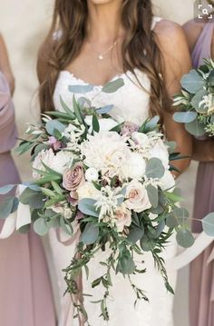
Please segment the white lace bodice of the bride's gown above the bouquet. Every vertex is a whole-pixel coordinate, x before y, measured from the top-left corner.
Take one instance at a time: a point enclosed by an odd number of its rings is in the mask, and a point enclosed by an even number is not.
[[[155,17],[154,25],[160,21],[160,18]],[[148,76],[142,73],[139,69],[135,69],[135,74],[128,71],[125,74],[118,74],[111,81],[117,78],[122,78],[124,85],[115,93],[102,93],[102,85],[94,85],[92,91],[86,94],[75,94],[76,99],[83,95],[92,101],[95,107],[101,107],[107,104],[112,104],[112,118],[119,123],[128,121],[140,125],[149,116],[150,90],[151,83]],[[136,78],[137,77],[137,78]],[[139,84],[139,81],[141,84]],[[71,72],[63,70],[59,74],[58,81],[53,94],[53,103],[57,111],[63,111],[60,102],[60,95],[65,104],[73,108],[73,94],[69,92],[69,85],[86,85],[87,83],[80,78],[77,78]]]

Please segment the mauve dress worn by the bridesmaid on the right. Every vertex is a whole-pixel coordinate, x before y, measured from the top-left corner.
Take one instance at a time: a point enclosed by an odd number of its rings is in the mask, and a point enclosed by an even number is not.
[[[192,52],[194,67],[211,56],[214,23],[204,26]],[[214,141],[213,141],[214,148]],[[214,212],[214,162],[199,163],[193,217],[202,219]],[[193,222],[192,231],[201,232],[201,223]],[[209,255],[214,244],[190,263],[190,326],[214,326],[214,261]]]

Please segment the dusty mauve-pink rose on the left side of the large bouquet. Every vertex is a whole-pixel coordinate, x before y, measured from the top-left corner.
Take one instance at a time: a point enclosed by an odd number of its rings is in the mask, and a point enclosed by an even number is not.
[[[63,173],[63,187],[70,192],[75,192],[85,183],[83,164],[76,163],[72,169],[67,169]]]

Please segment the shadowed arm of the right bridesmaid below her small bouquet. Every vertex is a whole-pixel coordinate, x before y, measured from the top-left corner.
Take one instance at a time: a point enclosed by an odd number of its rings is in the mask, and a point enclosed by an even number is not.
[[[214,140],[199,141],[194,139],[192,158],[199,162],[214,162]]]

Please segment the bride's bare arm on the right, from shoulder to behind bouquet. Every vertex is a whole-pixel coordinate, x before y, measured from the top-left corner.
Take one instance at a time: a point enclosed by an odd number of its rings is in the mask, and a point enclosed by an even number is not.
[[[190,72],[191,61],[190,52],[186,37],[180,25],[170,21],[162,20],[156,25],[155,32],[160,44],[160,50],[165,65],[165,83],[170,97],[180,93],[180,79],[183,74]],[[182,123],[173,120],[172,110],[164,112],[164,126],[168,140],[177,143],[176,152],[182,156],[188,156],[173,162],[180,173],[185,171],[190,165],[192,155],[192,136],[188,133]]]

